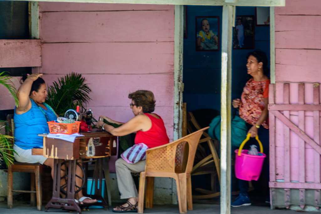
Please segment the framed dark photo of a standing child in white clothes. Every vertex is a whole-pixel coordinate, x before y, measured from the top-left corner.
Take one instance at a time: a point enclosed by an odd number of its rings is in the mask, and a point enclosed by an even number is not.
[[[255,49],[254,16],[237,16],[233,27],[233,49]]]

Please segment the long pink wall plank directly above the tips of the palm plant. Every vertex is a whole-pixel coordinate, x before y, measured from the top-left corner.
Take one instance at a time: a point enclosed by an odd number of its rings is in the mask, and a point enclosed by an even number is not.
[[[42,71],[173,73],[173,46],[173,42],[43,43]]]

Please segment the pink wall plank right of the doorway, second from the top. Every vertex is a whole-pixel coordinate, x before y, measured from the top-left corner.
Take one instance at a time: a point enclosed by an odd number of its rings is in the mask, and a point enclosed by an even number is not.
[[[275,48],[321,49],[320,22],[321,16],[276,15]]]

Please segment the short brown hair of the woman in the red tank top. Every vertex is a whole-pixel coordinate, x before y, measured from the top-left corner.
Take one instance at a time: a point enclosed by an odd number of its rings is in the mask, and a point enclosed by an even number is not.
[[[134,100],[135,106],[141,106],[143,113],[152,113],[155,110],[155,98],[152,91],[137,90],[128,94],[128,98]]]

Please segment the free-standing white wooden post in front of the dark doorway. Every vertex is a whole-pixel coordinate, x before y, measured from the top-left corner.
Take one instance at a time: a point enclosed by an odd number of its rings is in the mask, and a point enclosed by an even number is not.
[[[221,62],[221,214],[230,214],[231,212],[231,83],[232,26],[234,17],[235,8],[231,5],[223,5]]]

